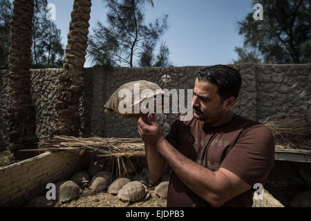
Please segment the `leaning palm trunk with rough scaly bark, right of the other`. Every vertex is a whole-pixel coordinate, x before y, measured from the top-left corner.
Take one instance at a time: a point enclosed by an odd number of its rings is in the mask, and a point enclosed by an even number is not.
[[[57,135],[79,135],[83,66],[88,41],[91,0],[75,0],[68,33],[62,74],[57,88],[55,131]]]

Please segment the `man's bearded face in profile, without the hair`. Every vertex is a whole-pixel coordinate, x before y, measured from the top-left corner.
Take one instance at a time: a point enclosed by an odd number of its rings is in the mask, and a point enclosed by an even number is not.
[[[223,104],[218,95],[218,87],[207,81],[198,81],[194,85],[194,117],[207,125],[217,123],[225,114]]]

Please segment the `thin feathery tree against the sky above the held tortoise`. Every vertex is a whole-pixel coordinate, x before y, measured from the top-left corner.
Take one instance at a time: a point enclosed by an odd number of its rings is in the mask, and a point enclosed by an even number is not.
[[[152,66],[153,50],[167,30],[168,15],[146,25],[146,0],[104,0],[107,25],[100,21],[88,40],[88,57],[104,66]],[[152,5],[152,1],[149,1]]]

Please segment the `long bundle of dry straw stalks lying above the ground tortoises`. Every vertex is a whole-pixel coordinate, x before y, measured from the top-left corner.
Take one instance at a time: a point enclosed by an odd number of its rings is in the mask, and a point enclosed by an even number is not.
[[[102,138],[55,136],[53,139],[39,142],[39,149],[48,151],[72,151],[83,154],[85,151],[98,153],[98,157],[132,157],[142,156],[144,142],[140,138]]]

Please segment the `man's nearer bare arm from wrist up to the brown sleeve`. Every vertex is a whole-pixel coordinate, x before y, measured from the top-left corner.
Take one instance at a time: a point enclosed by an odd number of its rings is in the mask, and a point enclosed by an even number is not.
[[[220,168],[211,171],[182,155],[167,140],[163,139],[157,146],[171,169],[180,180],[200,198],[211,206],[222,206],[228,200],[247,191],[251,186],[234,173]]]

